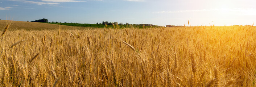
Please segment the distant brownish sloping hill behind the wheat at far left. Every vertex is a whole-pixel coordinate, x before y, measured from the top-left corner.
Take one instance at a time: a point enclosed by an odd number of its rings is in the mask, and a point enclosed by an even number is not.
[[[6,25],[6,20],[0,20],[0,28],[4,28]],[[47,24],[41,22],[25,22],[25,21],[12,21],[10,30],[24,29],[24,30],[54,30],[58,29],[57,24]],[[61,25],[61,29],[89,29],[88,27],[78,27],[78,26],[66,26]],[[96,28],[90,28],[96,29]]]

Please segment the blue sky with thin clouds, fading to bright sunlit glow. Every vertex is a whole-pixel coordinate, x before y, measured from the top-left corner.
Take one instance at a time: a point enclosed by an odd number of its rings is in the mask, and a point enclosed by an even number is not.
[[[252,25],[256,23],[255,4],[256,0],[0,0],[0,19],[160,26]]]

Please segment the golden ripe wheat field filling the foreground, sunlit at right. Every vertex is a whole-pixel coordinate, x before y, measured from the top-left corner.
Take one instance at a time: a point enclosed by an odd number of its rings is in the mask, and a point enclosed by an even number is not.
[[[12,24],[15,25],[15,24]],[[255,26],[7,30],[7,87],[254,87]]]

